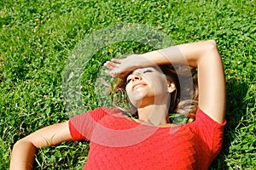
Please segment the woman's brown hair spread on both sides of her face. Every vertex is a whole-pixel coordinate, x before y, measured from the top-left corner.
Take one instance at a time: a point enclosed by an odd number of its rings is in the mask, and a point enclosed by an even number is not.
[[[191,68],[188,65],[159,65],[159,68],[166,75],[166,79],[173,82],[176,86],[176,89],[171,94],[169,115],[173,113],[182,114],[188,117],[188,122],[193,122],[198,105],[195,68]],[[127,76],[118,77],[115,82],[113,87],[113,105],[124,113],[136,115],[137,109],[131,105],[125,92]]]

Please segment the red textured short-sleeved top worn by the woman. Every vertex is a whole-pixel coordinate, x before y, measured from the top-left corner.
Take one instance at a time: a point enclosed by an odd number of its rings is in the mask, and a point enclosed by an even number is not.
[[[90,140],[84,169],[208,169],[221,149],[224,124],[198,110],[195,122],[154,127],[100,107],[69,120],[73,140]]]

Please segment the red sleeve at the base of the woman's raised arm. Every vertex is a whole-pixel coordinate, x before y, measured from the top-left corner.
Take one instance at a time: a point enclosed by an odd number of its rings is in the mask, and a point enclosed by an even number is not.
[[[213,156],[217,156],[221,150],[226,121],[219,124],[199,108],[195,115],[195,122],[192,122],[195,133],[199,136]]]

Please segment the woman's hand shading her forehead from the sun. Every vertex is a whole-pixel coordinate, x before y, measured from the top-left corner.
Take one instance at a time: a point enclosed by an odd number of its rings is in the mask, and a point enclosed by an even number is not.
[[[143,54],[131,54],[124,59],[111,59],[104,66],[109,69],[107,74],[111,77],[121,77],[137,68],[154,65],[150,60],[146,59]]]

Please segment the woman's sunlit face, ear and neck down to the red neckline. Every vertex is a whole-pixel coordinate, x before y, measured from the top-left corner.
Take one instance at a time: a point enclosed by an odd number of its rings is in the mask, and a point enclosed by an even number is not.
[[[154,126],[170,126],[167,121],[170,93],[173,83],[155,67],[145,67],[132,71],[126,78],[126,93],[131,104],[137,107],[138,122]]]

